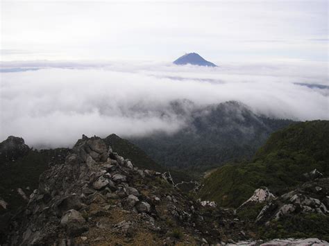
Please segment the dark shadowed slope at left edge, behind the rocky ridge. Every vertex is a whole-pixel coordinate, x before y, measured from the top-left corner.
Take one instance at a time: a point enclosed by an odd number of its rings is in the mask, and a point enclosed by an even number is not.
[[[0,205],[0,215],[24,206],[41,173],[63,161],[69,152],[67,148],[32,150],[19,137],[8,137],[0,146],[0,200],[7,204],[6,209]]]

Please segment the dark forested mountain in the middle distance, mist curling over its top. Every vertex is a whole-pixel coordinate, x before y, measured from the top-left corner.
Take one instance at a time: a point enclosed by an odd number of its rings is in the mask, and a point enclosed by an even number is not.
[[[178,101],[171,110],[187,119],[184,128],[174,134],[155,132],[128,140],[158,164],[176,168],[205,170],[251,157],[269,134],[293,123],[259,116],[235,101],[206,107]]]

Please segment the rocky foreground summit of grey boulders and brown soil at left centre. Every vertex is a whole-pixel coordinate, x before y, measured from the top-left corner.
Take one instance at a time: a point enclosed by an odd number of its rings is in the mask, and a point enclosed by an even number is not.
[[[214,219],[215,218],[215,219]],[[244,240],[233,211],[187,197],[99,137],[78,140],[11,219],[8,245],[172,245]],[[231,239],[230,239],[231,240]]]

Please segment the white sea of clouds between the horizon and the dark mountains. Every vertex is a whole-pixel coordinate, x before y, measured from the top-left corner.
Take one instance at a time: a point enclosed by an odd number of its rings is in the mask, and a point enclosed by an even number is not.
[[[325,62],[258,62],[219,67],[157,62],[3,62],[0,141],[72,146],[81,137],[175,132],[185,120],[175,100],[199,107],[238,100],[256,114],[328,119]],[[164,114],[165,113],[165,114]]]

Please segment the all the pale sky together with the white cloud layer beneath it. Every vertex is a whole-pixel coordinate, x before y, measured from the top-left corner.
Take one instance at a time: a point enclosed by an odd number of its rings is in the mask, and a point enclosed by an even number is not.
[[[171,103],[329,119],[328,1],[2,0],[0,141],[183,128]],[[196,52],[219,67],[177,66]],[[190,110],[187,105],[187,111]],[[165,116],[164,116],[165,115]]]

